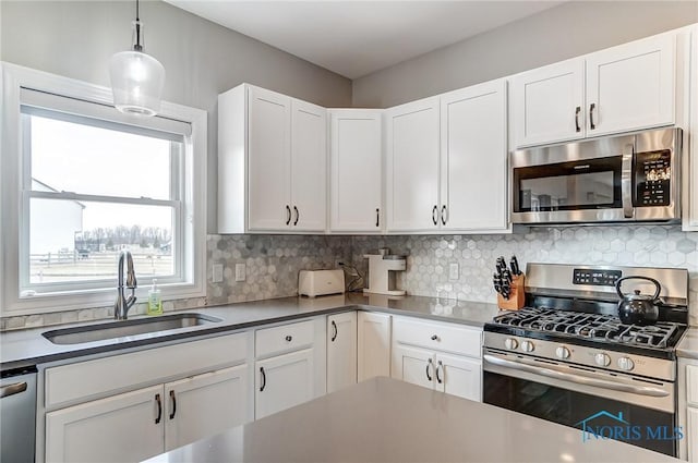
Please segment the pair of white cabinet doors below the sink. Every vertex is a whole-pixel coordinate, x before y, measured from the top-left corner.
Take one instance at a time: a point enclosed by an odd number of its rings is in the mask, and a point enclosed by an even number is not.
[[[47,462],[137,462],[249,421],[248,366],[46,414]]]

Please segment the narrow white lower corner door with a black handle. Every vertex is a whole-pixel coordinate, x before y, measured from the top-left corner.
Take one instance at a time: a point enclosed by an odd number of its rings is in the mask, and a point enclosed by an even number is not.
[[[357,383],[357,313],[327,317],[327,392]]]

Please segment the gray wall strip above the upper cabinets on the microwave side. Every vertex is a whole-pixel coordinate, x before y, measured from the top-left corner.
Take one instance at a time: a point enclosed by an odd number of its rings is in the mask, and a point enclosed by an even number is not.
[[[571,1],[353,81],[388,108],[698,22],[698,1]]]

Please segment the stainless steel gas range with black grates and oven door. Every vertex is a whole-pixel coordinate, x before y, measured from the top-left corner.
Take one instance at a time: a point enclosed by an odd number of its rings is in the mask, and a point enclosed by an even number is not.
[[[616,281],[661,284],[659,319],[624,325]],[[484,326],[483,401],[677,455],[675,346],[688,321],[685,269],[529,264],[526,307]],[[626,288],[627,285],[627,288]],[[652,294],[646,280],[623,292]]]

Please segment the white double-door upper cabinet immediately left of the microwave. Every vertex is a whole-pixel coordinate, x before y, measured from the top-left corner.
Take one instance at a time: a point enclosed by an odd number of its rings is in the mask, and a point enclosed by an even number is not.
[[[508,230],[506,82],[386,112],[388,232]]]

